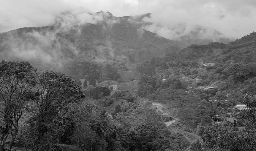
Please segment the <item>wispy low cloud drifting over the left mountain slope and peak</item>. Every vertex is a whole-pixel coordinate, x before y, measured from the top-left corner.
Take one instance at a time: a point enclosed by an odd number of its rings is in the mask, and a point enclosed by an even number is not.
[[[89,14],[76,10],[58,14],[52,22],[54,26],[45,29],[30,28],[21,33],[18,30],[9,31],[0,43],[0,59],[32,60],[39,65],[46,63],[61,67],[63,61],[80,53],[72,36],[79,36],[82,26],[87,23],[101,24],[103,21],[107,23],[106,30],[119,22],[107,12]]]

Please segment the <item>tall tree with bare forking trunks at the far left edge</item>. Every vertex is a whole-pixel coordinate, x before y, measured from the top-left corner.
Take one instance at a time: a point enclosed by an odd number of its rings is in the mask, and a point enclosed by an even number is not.
[[[28,62],[0,62],[0,113],[3,125],[0,151],[5,150],[5,142],[11,134],[8,151],[11,151],[19,131],[19,119],[25,110],[27,101],[31,99],[30,90],[35,85],[36,69]]]

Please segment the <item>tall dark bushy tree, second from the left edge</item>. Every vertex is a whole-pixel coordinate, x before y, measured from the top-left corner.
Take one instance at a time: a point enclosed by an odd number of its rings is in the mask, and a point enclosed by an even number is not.
[[[34,149],[54,148],[55,143],[68,142],[76,122],[72,103],[84,97],[81,88],[65,74],[45,71],[38,75],[35,91],[39,96],[36,99],[38,112],[30,119]]]

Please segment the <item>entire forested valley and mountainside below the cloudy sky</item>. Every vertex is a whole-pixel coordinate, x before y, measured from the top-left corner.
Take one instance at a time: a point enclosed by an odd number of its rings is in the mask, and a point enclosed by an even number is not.
[[[86,15],[0,34],[0,151],[255,150],[254,32],[183,48],[150,14]]]

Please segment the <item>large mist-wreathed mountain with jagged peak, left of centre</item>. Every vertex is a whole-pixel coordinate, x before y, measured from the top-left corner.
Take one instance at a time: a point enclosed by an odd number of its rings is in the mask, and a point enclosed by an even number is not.
[[[175,54],[179,42],[165,39],[142,28],[147,15],[114,17],[96,14],[63,13],[54,25],[25,27],[0,34],[1,60],[28,60],[34,66],[58,68],[76,58],[130,61]]]

